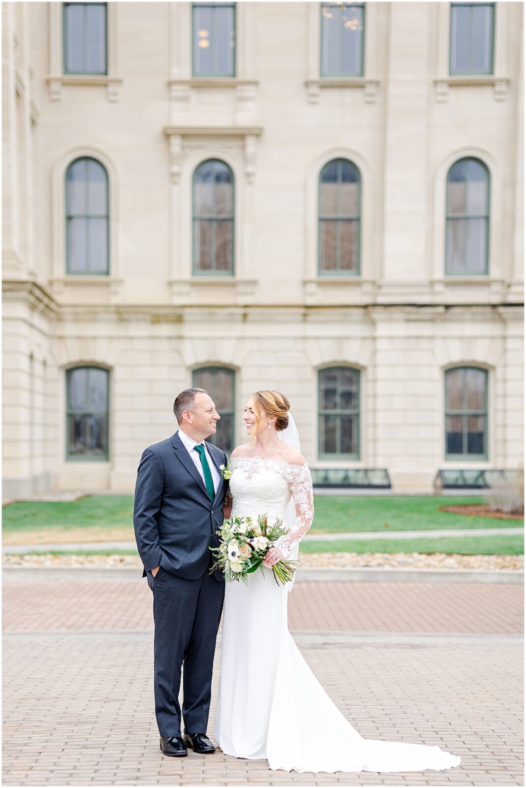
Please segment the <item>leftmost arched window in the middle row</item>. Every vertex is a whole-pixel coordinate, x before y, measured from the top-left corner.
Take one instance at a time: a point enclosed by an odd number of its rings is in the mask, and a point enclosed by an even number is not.
[[[69,274],[109,273],[108,173],[94,158],[66,172],[66,265]]]

